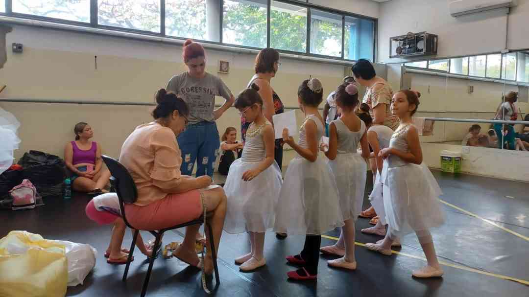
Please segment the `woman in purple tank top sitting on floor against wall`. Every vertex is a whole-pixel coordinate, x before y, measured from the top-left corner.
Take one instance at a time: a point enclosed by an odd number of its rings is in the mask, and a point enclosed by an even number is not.
[[[103,169],[101,145],[90,141],[94,131],[87,123],[77,123],[74,127],[75,141],[66,144],[65,162],[71,172],[71,185],[75,191],[89,194],[108,192],[105,186],[110,172]]]

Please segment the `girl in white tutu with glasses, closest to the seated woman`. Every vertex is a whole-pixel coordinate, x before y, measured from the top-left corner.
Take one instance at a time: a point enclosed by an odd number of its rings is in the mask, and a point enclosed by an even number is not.
[[[235,100],[235,108],[252,124],[246,133],[242,157],[231,164],[224,185],[228,198],[224,230],[232,234],[248,231],[250,236],[250,253],[235,259],[241,271],[266,264],[265,231],[273,227],[274,207],[282,183],[281,171],[274,160],[273,127],[263,115],[258,90],[252,83]]]

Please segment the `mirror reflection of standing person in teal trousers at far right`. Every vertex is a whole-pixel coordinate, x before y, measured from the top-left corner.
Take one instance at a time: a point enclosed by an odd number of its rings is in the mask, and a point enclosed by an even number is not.
[[[497,120],[516,120],[518,119],[518,113],[516,112],[515,102],[518,100],[518,93],[510,91],[503,98],[503,103],[500,104],[496,112],[494,119]],[[504,147],[504,143],[507,143],[508,150],[515,149],[515,132],[513,125],[507,124],[494,124],[494,131],[498,136],[498,148]]]

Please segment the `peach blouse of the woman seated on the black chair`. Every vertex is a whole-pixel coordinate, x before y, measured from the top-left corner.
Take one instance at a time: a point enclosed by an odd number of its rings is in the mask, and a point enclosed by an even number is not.
[[[163,199],[180,183],[182,157],[175,133],[156,122],[136,127],[121,147],[120,163],[129,170],[136,187],[138,206]]]

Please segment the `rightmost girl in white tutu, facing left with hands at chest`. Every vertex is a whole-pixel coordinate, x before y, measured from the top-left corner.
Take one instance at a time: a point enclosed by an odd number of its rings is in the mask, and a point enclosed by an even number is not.
[[[443,270],[429,229],[444,223],[444,212],[439,202],[441,189],[423,163],[417,128],[412,125],[418,105],[417,95],[410,90],[398,91],[391,101],[391,112],[400,119],[400,125],[391,136],[389,147],[379,153],[387,163],[382,183],[388,231],[381,242],[366,246],[390,256],[393,240],[415,231],[428,264],[414,271],[413,276],[435,277],[443,275]]]

